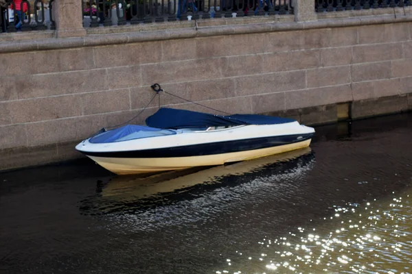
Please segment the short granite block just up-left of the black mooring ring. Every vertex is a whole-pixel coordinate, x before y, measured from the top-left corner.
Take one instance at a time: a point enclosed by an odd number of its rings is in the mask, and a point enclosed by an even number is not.
[[[121,66],[107,69],[108,88],[133,88],[140,86],[140,66]]]

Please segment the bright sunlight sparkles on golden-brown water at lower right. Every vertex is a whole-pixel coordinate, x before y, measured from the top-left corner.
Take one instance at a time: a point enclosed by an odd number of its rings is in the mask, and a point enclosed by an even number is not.
[[[258,268],[260,268],[258,264],[262,262],[266,269],[279,271],[279,273],[308,273],[309,269],[310,273],[317,273],[317,271],[334,273],[336,269],[339,271],[345,269],[353,273],[382,271],[379,268],[381,264],[375,264],[372,258],[389,259],[391,258],[390,253],[387,253],[389,251],[393,254],[402,253],[403,256],[412,258],[411,245],[407,245],[409,247],[407,250],[402,242],[396,240],[399,237],[411,236],[410,232],[403,230],[407,229],[404,226],[407,218],[400,215],[399,211],[394,210],[401,208],[400,202],[404,202],[404,200],[396,198],[392,200],[390,205],[387,204],[387,208],[377,205],[380,210],[374,209],[376,206],[374,203],[367,202],[365,203],[369,208],[367,212],[356,212],[354,208],[359,208],[361,205],[347,204],[345,207],[336,207],[335,212],[339,213],[334,213],[333,216],[339,217],[342,221],[332,217],[332,219],[322,218],[324,225],[321,224],[316,228],[317,234],[297,237],[294,231],[288,232],[288,242],[283,236],[272,240],[265,238],[266,244],[272,242],[282,242],[282,244],[276,245],[276,248],[265,245],[264,253],[253,254],[260,256],[259,260],[251,262],[255,262],[254,264]],[[351,223],[362,224],[362,226]],[[332,227],[336,228],[332,229]],[[382,229],[382,227],[391,227],[391,229]],[[332,230],[328,231],[328,229]],[[314,231],[315,229],[313,227],[297,227],[297,232],[300,233],[307,230]],[[368,255],[366,256],[366,254]],[[247,258],[251,260],[252,256]],[[227,262],[229,261],[227,259]],[[299,264],[299,262],[301,263]]]

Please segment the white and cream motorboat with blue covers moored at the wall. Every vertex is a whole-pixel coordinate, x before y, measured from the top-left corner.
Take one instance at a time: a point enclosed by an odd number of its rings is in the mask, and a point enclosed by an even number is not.
[[[76,149],[118,175],[240,162],[308,147],[312,127],[258,114],[159,108],[146,125],[103,130]]]

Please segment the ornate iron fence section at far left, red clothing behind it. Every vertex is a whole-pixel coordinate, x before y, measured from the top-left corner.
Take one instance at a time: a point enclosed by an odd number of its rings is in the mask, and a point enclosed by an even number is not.
[[[7,0],[5,7],[0,8],[1,32],[55,29],[52,14],[54,1],[22,0],[20,5],[16,5],[13,0]]]

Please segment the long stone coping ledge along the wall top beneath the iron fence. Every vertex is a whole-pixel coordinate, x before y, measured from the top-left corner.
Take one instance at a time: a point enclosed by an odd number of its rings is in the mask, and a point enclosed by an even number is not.
[[[337,13],[337,12],[336,12]],[[222,18],[223,20],[227,20]],[[233,25],[202,25],[195,21],[187,21],[181,23],[182,28],[160,29],[140,32],[122,32],[113,34],[88,34],[78,38],[47,38],[49,32],[45,32],[39,38],[32,37],[30,40],[11,40],[0,42],[0,53],[21,52],[21,51],[36,51],[50,49],[68,49],[76,47],[95,47],[104,45],[117,45],[133,42],[148,42],[170,39],[210,37],[210,36],[226,36],[237,34],[256,34],[264,32],[286,32],[303,29],[321,29],[328,27],[353,27],[361,25],[378,25],[388,23],[411,22],[412,14],[401,14],[393,16],[384,14],[380,16],[360,16],[350,18],[332,18],[319,21],[309,22],[277,22],[267,19],[258,21],[255,18],[242,18],[242,24]],[[252,20],[249,23],[249,20]],[[253,22],[255,21],[255,22]],[[128,28],[124,28],[125,31]],[[93,30],[91,32],[94,32]],[[104,32],[104,31],[102,31]],[[23,34],[8,34],[21,36]],[[1,38],[1,36],[0,36]]]

